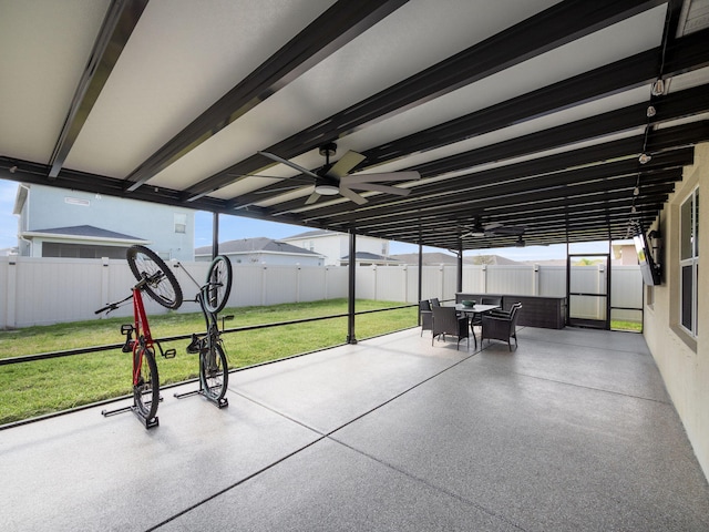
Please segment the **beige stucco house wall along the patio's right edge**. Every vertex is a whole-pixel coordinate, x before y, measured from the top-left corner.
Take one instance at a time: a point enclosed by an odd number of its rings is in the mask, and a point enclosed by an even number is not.
[[[679,205],[699,186],[699,310],[696,341],[679,328]],[[709,479],[709,143],[696,147],[695,164],[669,197],[659,218],[664,249],[662,285],[645,308],[645,338],[665,386],[685,424],[705,475]]]

